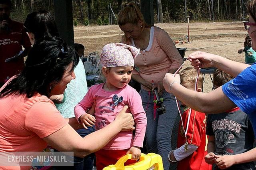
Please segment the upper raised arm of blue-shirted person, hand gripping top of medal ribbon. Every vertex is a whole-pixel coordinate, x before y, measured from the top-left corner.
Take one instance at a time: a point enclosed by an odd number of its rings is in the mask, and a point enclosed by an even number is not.
[[[189,55],[189,61],[194,68],[207,68],[207,67],[217,67],[222,71],[229,73],[233,77],[236,77],[244,69],[250,65],[239,63],[221,57],[219,55],[214,55],[211,53],[205,53],[201,51],[196,51]]]

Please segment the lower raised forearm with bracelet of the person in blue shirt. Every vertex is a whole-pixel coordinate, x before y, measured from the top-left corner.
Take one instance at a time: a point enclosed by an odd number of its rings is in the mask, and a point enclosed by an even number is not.
[[[182,103],[202,113],[221,113],[236,107],[223,93],[222,87],[209,93],[200,93],[180,85],[180,76],[166,73],[163,79],[164,88],[173,93]],[[171,86],[171,87],[170,87]]]

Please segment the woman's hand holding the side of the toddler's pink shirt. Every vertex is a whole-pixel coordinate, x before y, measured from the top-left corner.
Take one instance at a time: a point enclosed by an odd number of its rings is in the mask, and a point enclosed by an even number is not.
[[[134,119],[131,113],[126,113],[128,106],[124,108],[116,115],[116,119],[113,123],[118,123],[121,131],[134,130]]]

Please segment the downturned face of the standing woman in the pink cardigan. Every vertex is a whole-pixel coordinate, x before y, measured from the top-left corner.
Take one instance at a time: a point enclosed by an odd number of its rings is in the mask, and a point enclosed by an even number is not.
[[[124,24],[123,26],[119,26],[120,29],[124,32],[124,34],[127,36],[127,38],[136,39],[140,36],[142,32],[140,20],[138,21],[138,24]]]

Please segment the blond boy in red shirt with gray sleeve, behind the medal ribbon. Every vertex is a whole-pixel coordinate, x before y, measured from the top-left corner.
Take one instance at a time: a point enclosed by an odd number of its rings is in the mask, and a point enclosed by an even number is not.
[[[197,75],[197,70],[193,67],[182,70],[180,84],[187,89],[201,92],[203,75],[199,73],[196,86]],[[205,114],[184,106],[184,113],[178,131],[177,149],[169,153],[169,161],[178,161],[178,170],[211,169],[212,166],[208,165],[204,160],[206,141]]]

